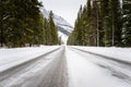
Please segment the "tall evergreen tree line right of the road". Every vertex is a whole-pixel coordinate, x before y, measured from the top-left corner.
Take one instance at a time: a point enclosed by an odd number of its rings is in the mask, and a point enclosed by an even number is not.
[[[87,0],[68,45],[131,47],[131,0]]]

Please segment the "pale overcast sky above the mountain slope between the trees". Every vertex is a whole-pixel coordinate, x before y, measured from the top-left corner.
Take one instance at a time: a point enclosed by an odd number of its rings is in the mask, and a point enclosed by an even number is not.
[[[78,15],[81,4],[86,0],[39,0],[43,1],[45,9],[52,10],[53,13],[66,18],[72,26]]]

